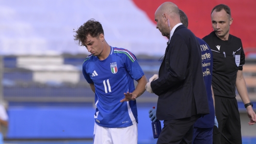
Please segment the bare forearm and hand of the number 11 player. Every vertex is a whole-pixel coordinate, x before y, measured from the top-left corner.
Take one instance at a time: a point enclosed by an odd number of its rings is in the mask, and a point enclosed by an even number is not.
[[[124,102],[124,101],[135,101],[136,98],[138,98],[139,96],[141,96],[144,91],[145,91],[145,86],[147,83],[147,79],[146,76],[143,75],[140,79],[137,80],[138,85],[136,86],[135,90],[130,93],[124,93],[125,98],[123,100],[121,100],[120,102]]]

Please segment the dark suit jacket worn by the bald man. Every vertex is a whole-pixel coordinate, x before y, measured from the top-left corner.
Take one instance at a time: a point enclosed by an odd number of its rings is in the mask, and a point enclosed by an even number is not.
[[[178,26],[165,50],[159,78],[151,82],[153,92],[159,96],[159,120],[191,117],[193,110],[209,114],[201,58],[195,35],[183,25]]]

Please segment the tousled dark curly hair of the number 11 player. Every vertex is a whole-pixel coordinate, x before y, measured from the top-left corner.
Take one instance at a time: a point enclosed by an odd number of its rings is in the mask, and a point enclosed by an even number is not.
[[[84,42],[87,41],[87,36],[90,34],[92,37],[99,37],[100,34],[104,34],[101,24],[95,19],[90,19],[86,23],[80,26],[74,35],[74,40],[78,41],[78,45],[84,46]]]

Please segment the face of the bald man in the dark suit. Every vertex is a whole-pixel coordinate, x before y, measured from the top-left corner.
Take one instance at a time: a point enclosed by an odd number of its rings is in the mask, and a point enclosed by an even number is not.
[[[163,36],[170,36],[170,31],[166,30],[166,23],[164,22],[164,17],[158,11],[155,13],[155,21],[157,22],[157,29],[160,30]]]

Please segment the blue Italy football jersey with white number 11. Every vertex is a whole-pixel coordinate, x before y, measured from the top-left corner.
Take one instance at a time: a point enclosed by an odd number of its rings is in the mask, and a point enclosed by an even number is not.
[[[111,46],[110,55],[104,60],[88,56],[82,72],[86,81],[95,86],[96,124],[120,128],[138,123],[136,101],[120,102],[124,93],[134,91],[134,80],[144,75],[131,52]]]

